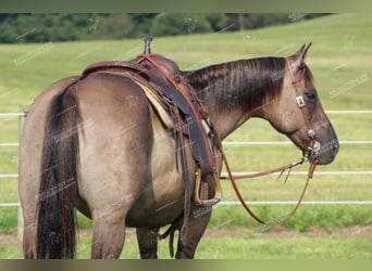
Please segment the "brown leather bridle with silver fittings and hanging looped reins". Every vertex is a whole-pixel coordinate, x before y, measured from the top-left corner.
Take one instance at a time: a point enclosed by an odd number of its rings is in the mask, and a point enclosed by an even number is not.
[[[265,170],[265,171],[261,171],[261,172],[257,172],[257,173],[251,173],[251,175],[244,175],[244,176],[233,176],[232,173],[232,170],[230,168],[230,165],[227,163],[227,159],[226,159],[226,156],[224,153],[222,153],[222,158],[224,160],[224,164],[225,164],[225,168],[226,168],[226,171],[227,171],[227,176],[228,176],[228,179],[234,188],[234,191],[240,202],[240,204],[243,205],[243,207],[249,212],[249,215],[255,219],[257,220],[258,222],[262,223],[262,224],[265,224],[265,225],[275,225],[275,224],[278,224],[278,223],[282,223],[282,222],[285,222],[287,221],[290,217],[293,217],[293,215],[295,215],[295,212],[297,211],[298,207],[300,206],[302,199],[303,199],[303,196],[305,196],[305,193],[307,191],[307,188],[308,188],[308,184],[310,182],[310,179],[312,179],[313,177],[313,172],[315,170],[315,166],[317,166],[317,160],[318,160],[318,157],[320,155],[320,150],[321,150],[321,144],[317,141],[315,139],[315,130],[312,128],[312,125],[310,122],[310,118],[309,118],[309,114],[306,109],[306,104],[305,104],[305,100],[303,100],[303,96],[301,95],[300,91],[299,91],[299,88],[298,88],[298,83],[303,79],[305,77],[305,68],[302,69],[302,73],[301,75],[296,79],[295,78],[295,75],[294,75],[294,72],[292,70],[292,61],[289,57],[286,57],[285,59],[285,63],[286,63],[286,69],[288,70],[289,73],[289,76],[290,76],[290,80],[292,80],[292,86],[295,90],[295,93],[296,93],[296,102],[297,102],[297,105],[302,114],[302,117],[303,117],[303,120],[305,120],[305,125],[307,127],[307,134],[308,137],[310,138],[310,142],[309,142],[309,145],[307,147],[307,151],[303,152],[303,156],[300,158],[300,159],[297,159],[295,160],[294,163],[290,163],[286,166],[283,166],[283,167],[280,167],[280,168],[275,168],[275,169],[271,169],[271,170]],[[246,202],[244,201],[243,196],[241,196],[241,193],[235,182],[235,180],[237,179],[249,179],[249,178],[255,178],[255,177],[260,177],[260,176],[266,176],[266,175],[271,175],[271,173],[274,173],[274,172],[280,172],[282,171],[282,173],[287,170],[287,169],[292,169],[294,167],[296,167],[297,165],[300,165],[302,164],[306,158],[308,158],[310,160],[310,167],[309,167],[309,170],[308,170],[308,177],[307,177],[307,181],[303,185],[303,189],[302,189],[302,192],[300,194],[300,197],[295,206],[295,208],[287,215],[285,216],[284,218],[280,219],[280,220],[276,220],[276,221],[273,221],[273,222],[266,222],[266,221],[263,221],[262,219],[260,219],[250,208],[249,206],[246,204]]]

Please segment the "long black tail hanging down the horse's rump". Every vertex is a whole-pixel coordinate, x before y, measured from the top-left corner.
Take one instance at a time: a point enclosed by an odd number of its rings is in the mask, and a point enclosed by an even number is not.
[[[37,258],[75,256],[82,120],[76,82],[52,99],[47,114],[37,198]]]

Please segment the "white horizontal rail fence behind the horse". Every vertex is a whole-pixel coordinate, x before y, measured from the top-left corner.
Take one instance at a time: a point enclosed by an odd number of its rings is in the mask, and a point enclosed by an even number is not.
[[[327,111],[326,114],[372,114],[372,111]],[[0,113],[0,117],[20,117],[20,124],[25,119],[25,113]],[[372,141],[339,141],[343,144],[372,144]],[[292,144],[287,141],[235,141],[235,142],[224,142],[224,145],[286,145]],[[18,143],[0,143],[0,147],[17,147]],[[249,172],[239,172],[249,173]],[[305,171],[293,172],[293,175],[307,175]],[[322,171],[317,172],[317,175],[368,175],[372,176],[372,170],[355,170],[355,171]],[[0,181],[3,178],[14,178],[18,177],[17,173],[1,173]],[[221,202],[220,205],[238,205],[239,202]],[[247,202],[250,205],[294,205],[296,202],[293,201],[281,201],[281,202]],[[372,201],[305,201],[305,205],[371,205]],[[1,207],[17,207],[18,208],[18,229],[22,227],[22,209],[20,203],[0,203]],[[20,232],[20,231],[18,231]]]

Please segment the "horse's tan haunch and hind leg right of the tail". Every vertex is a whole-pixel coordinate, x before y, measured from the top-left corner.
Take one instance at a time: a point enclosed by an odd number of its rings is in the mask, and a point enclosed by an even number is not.
[[[101,87],[104,86],[104,87]],[[125,218],[149,179],[149,105],[129,79],[92,74],[79,85],[79,196],[94,222],[92,258],[117,258]]]

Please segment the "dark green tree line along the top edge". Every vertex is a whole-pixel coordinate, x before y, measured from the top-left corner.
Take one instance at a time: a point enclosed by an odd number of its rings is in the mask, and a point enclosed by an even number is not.
[[[318,13],[1,14],[0,42],[46,42],[236,31],[290,24]]]

